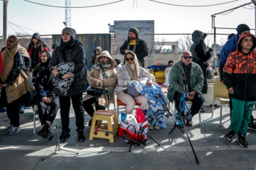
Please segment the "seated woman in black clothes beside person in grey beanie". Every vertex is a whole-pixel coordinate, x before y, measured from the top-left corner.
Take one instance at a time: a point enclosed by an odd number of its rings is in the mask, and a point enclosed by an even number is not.
[[[53,124],[53,120],[58,112],[59,99],[53,92],[53,74],[49,71],[48,63],[50,61],[50,53],[43,51],[40,57],[40,63],[38,65],[38,72],[35,80],[36,88],[36,103],[38,106],[38,115],[42,125],[42,129],[37,133],[43,140],[53,139],[53,133],[50,132],[50,125]],[[47,107],[50,106],[48,113]]]

